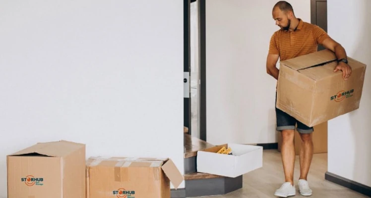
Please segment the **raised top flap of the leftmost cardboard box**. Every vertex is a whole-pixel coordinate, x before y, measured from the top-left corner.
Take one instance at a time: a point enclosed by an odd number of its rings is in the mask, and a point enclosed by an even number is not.
[[[49,157],[62,157],[66,156],[76,149],[84,147],[84,144],[78,144],[68,141],[58,141],[58,142],[47,142],[47,143],[37,143],[31,147],[25,148],[9,156],[49,156]]]

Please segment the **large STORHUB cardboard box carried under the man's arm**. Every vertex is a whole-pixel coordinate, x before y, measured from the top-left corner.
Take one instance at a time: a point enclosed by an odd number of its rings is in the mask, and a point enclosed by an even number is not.
[[[280,62],[277,108],[309,127],[360,106],[366,65],[348,57],[352,75],[345,81],[335,54],[321,50]]]

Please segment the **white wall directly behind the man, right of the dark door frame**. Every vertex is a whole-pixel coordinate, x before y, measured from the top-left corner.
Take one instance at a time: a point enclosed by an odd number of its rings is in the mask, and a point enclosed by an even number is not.
[[[206,0],[207,142],[276,143],[276,80],[266,73],[277,0]],[[289,1],[310,23],[310,1]]]

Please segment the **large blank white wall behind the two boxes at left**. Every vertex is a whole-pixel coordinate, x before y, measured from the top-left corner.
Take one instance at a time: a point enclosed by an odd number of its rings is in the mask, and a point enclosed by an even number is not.
[[[6,154],[61,139],[184,172],[182,1],[0,5],[1,178]]]

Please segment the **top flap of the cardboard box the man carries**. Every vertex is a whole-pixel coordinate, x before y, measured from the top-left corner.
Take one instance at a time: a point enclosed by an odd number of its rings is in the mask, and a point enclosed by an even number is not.
[[[281,61],[280,63],[294,70],[301,70],[307,69],[309,67],[323,65],[335,60],[335,53],[329,49],[324,49],[306,55],[297,56],[295,58],[287,59]]]

